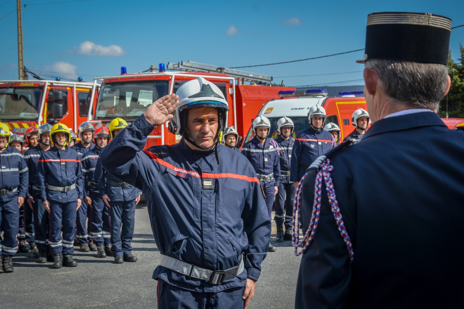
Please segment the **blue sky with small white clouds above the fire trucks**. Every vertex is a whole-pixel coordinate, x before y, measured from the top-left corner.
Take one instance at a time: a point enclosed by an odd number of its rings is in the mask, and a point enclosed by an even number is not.
[[[0,5],[6,1],[0,0]],[[27,5],[23,9],[26,67],[87,81],[119,74],[121,66],[128,73],[137,72],[139,38],[144,71],[160,62],[247,66],[364,48],[367,14],[372,12],[435,13],[450,17],[453,26],[464,24],[462,0],[89,0],[34,5],[57,1],[62,0],[22,0]],[[15,0],[0,7],[0,18],[15,7]],[[0,79],[17,79],[16,13],[0,19],[0,28]],[[459,43],[464,44],[464,27],[451,32],[454,59]],[[242,70],[271,75],[279,84],[283,79],[285,85],[362,85],[363,66],[354,62],[362,54]]]

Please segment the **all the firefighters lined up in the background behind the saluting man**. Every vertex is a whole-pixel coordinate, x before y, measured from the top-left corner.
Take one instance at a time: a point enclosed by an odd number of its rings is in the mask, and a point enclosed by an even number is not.
[[[258,116],[252,124],[255,137],[242,147],[241,153],[263,183],[270,216],[275,201],[276,242],[291,240],[298,180],[309,164],[340,142],[338,125],[323,125],[325,117],[322,106],[311,107],[310,126],[296,138],[291,138],[291,118],[280,118],[278,137],[273,139],[267,138],[269,119]],[[369,115],[360,108],[352,120],[356,127],[344,140],[358,142]],[[141,192],[106,172],[98,160],[110,139],[126,126],[122,118],[113,119],[109,129],[84,122],[76,142],[76,134],[61,123],[31,127],[24,138],[0,124],[0,229],[4,231],[0,271],[13,272],[12,256],[17,251],[30,251],[38,263],[53,262],[52,268],[77,266],[72,257],[75,245],[83,252],[97,251],[97,257],[113,256],[114,263],[137,261],[131,240]],[[222,143],[240,151],[237,140],[237,131],[227,128]],[[28,148],[25,153],[23,147]],[[268,251],[276,250],[270,243]]]

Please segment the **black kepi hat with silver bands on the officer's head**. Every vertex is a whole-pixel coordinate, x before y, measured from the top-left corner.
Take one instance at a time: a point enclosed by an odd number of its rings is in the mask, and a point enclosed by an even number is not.
[[[448,64],[451,19],[431,13],[380,12],[367,15],[362,60],[405,60]]]

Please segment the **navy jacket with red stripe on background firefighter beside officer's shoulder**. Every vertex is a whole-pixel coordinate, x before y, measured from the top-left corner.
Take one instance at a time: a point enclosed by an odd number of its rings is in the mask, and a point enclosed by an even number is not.
[[[332,149],[333,136],[322,128],[315,131],[311,126],[296,135],[291,153],[290,181],[297,182],[303,177],[317,157]]]

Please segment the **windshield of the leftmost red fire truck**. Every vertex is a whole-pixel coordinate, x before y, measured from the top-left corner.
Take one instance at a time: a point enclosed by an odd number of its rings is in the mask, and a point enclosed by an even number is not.
[[[0,88],[0,121],[36,121],[44,88]]]

